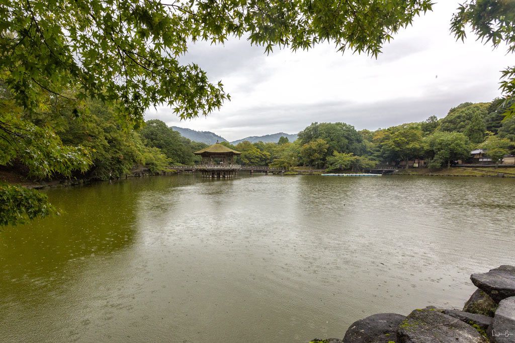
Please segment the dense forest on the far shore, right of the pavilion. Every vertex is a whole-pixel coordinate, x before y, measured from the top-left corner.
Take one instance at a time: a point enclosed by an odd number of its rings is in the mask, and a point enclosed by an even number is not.
[[[449,167],[475,148],[495,163],[515,148],[515,117],[505,119],[510,102],[462,103],[441,119],[356,131],[346,123],[313,123],[294,142],[225,145],[242,152],[238,162],[291,170],[297,166],[361,171],[377,163],[425,160],[430,168]],[[407,163],[406,163],[407,165]]]

